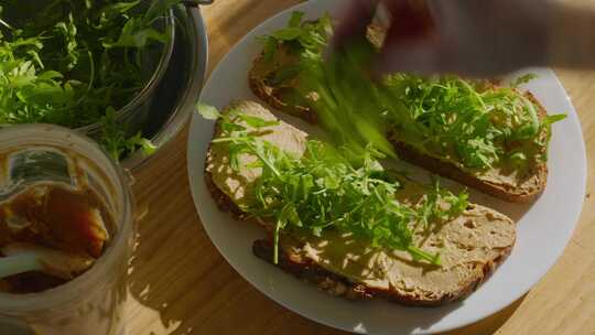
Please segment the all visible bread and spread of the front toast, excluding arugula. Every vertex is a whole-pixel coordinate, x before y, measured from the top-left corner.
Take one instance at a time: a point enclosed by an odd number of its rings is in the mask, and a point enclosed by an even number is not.
[[[275,120],[262,106],[242,101],[224,112],[237,112]],[[242,126],[247,126],[241,120]],[[269,142],[283,150],[302,154],[306,134],[280,122],[277,126],[255,129]],[[215,138],[221,134],[216,127]],[[210,145],[205,164],[208,190],[221,210],[247,218],[242,207],[250,201],[252,184],[261,173],[246,164],[256,158],[241,158],[239,172],[229,166],[225,145]],[[399,201],[416,202],[423,196],[424,186],[405,182]],[[401,198],[402,197],[402,198]],[[267,229],[273,227],[255,218]],[[368,242],[333,230],[323,236],[284,235],[280,241],[279,267],[334,295],[350,299],[388,298],[411,305],[434,306],[462,299],[473,292],[509,255],[515,244],[515,224],[493,209],[470,205],[463,215],[443,223],[431,234],[416,233],[416,245],[430,252],[441,252],[442,267],[415,261],[405,251],[371,248]],[[253,244],[256,256],[272,261],[270,240]]]

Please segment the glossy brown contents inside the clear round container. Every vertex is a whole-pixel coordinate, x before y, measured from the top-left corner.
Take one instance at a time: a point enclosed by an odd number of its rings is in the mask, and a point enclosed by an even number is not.
[[[112,215],[90,188],[34,184],[0,203],[0,256],[6,257],[1,250],[7,246],[24,244],[95,261],[109,241],[110,227],[113,227]],[[0,291],[35,293],[69,280],[31,271],[0,280]]]

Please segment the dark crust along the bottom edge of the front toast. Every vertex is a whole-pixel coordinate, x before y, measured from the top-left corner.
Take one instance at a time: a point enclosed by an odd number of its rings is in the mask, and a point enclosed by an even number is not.
[[[459,301],[475,292],[510,255],[512,247],[502,249],[498,258],[487,261],[482,267],[482,275],[469,282],[466,287],[456,292],[448,292],[428,299],[414,294],[402,294],[396,290],[378,290],[368,288],[360,283],[354,283],[347,278],[329,272],[312,260],[302,258],[299,255],[279,253],[277,267],[296,278],[315,284],[320,290],[335,296],[343,296],[349,300],[387,299],[408,306],[436,307],[451,302]],[[273,245],[271,240],[261,239],[252,245],[252,252],[259,258],[273,264]]]

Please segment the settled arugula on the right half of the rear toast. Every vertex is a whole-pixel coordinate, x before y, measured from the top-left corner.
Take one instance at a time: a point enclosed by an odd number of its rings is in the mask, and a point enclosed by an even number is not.
[[[378,86],[379,110],[398,139],[421,152],[472,170],[521,169],[547,161],[551,125],[566,117],[539,117],[539,107],[519,89],[532,78],[496,87],[455,76],[396,74]]]

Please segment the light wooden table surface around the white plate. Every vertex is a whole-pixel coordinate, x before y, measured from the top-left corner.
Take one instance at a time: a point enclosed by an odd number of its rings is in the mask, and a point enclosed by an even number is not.
[[[205,7],[209,69],[259,22],[298,2],[216,0]],[[578,110],[592,155],[595,72],[556,73]],[[140,224],[131,261],[129,334],[344,334],[269,300],[224,260],[194,209],[185,145],[184,131],[165,152],[136,172],[137,199],[140,207],[149,207],[149,215]],[[589,174],[595,172],[593,162],[589,160]],[[594,186],[589,179],[587,192]],[[593,204],[594,197],[587,196],[564,255],[527,295],[496,315],[448,334],[595,334]]]

